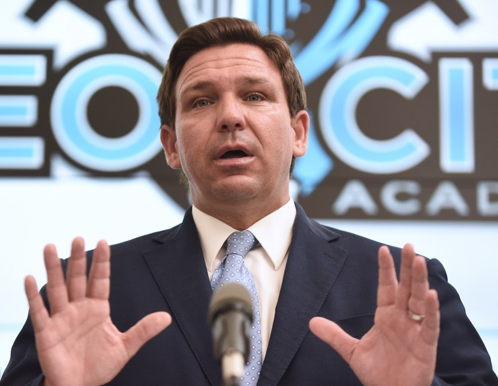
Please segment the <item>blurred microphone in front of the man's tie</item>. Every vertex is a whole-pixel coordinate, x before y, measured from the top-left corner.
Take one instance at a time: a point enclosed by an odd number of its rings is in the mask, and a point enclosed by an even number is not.
[[[252,299],[246,288],[230,283],[216,292],[209,305],[215,357],[221,362],[223,385],[239,386],[249,358]]]

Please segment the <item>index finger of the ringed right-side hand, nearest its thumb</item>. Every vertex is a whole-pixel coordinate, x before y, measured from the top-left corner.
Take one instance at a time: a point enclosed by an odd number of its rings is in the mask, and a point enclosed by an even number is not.
[[[389,248],[385,245],[378,250],[378,289],[377,306],[394,304],[398,281]]]

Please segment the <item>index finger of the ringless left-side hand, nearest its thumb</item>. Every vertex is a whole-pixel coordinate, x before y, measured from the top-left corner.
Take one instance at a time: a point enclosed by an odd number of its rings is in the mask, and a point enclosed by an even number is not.
[[[88,279],[88,296],[94,299],[109,299],[111,277],[111,250],[105,240],[99,241],[93,254]]]

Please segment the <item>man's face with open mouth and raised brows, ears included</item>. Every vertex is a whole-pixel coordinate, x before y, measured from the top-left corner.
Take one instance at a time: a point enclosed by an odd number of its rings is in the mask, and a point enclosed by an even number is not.
[[[168,163],[183,168],[192,202],[287,202],[292,156],[306,151],[308,115],[290,117],[277,69],[259,48],[212,47],[192,56],[176,85],[175,130],[162,126]]]

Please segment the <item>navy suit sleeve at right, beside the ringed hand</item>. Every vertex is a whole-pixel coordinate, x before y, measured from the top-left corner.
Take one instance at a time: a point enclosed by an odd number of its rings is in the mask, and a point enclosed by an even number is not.
[[[455,288],[448,284],[438,260],[427,263],[429,283],[438,292],[441,332],[438,340],[433,386],[498,386],[484,343],[467,317]],[[444,381],[443,381],[444,380]]]

